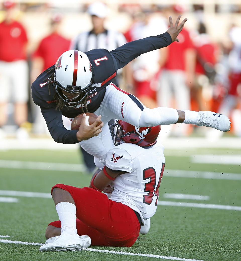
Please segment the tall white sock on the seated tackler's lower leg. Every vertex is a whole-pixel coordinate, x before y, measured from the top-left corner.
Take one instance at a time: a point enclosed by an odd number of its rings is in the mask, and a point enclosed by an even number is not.
[[[56,206],[56,211],[61,222],[61,236],[76,235],[76,206],[69,202],[60,202]]]

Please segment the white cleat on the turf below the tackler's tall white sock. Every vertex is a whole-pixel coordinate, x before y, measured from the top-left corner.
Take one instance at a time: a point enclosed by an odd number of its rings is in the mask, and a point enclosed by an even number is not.
[[[55,236],[46,240],[45,245],[39,248],[39,251],[81,251],[89,247],[91,239],[88,236]]]

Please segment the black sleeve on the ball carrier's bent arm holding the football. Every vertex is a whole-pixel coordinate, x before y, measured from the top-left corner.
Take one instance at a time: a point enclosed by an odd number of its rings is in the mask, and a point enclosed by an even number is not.
[[[64,128],[60,111],[56,111],[55,108],[41,108],[41,112],[47,123],[48,130],[56,142],[63,144],[79,143],[76,137],[77,131],[68,131]]]

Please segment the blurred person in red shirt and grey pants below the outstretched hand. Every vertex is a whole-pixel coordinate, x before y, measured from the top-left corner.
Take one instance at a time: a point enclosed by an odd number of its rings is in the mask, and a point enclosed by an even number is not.
[[[173,19],[183,12],[184,8],[180,5],[163,9],[163,13],[168,16],[171,14]],[[196,54],[187,29],[183,28],[180,32],[179,40],[178,43],[162,50],[160,66],[163,69],[157,90],[157,102],[158,106],[190,110],[190,88],[194,84]],[[162,135],[169,136],[172,129],[173,135],[186,136],[189,134],[190,127],[184,124],[175,128],[171,125],[164,126]]]

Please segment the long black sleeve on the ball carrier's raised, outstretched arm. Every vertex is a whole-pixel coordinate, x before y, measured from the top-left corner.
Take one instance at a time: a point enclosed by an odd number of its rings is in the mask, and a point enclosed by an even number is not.
[[[166,47],[171,43],[171,35],[166,32],[156,36],[149,36],[131,41],[110,52],[117,61],[118,69],[120,69],[139,55]]]

